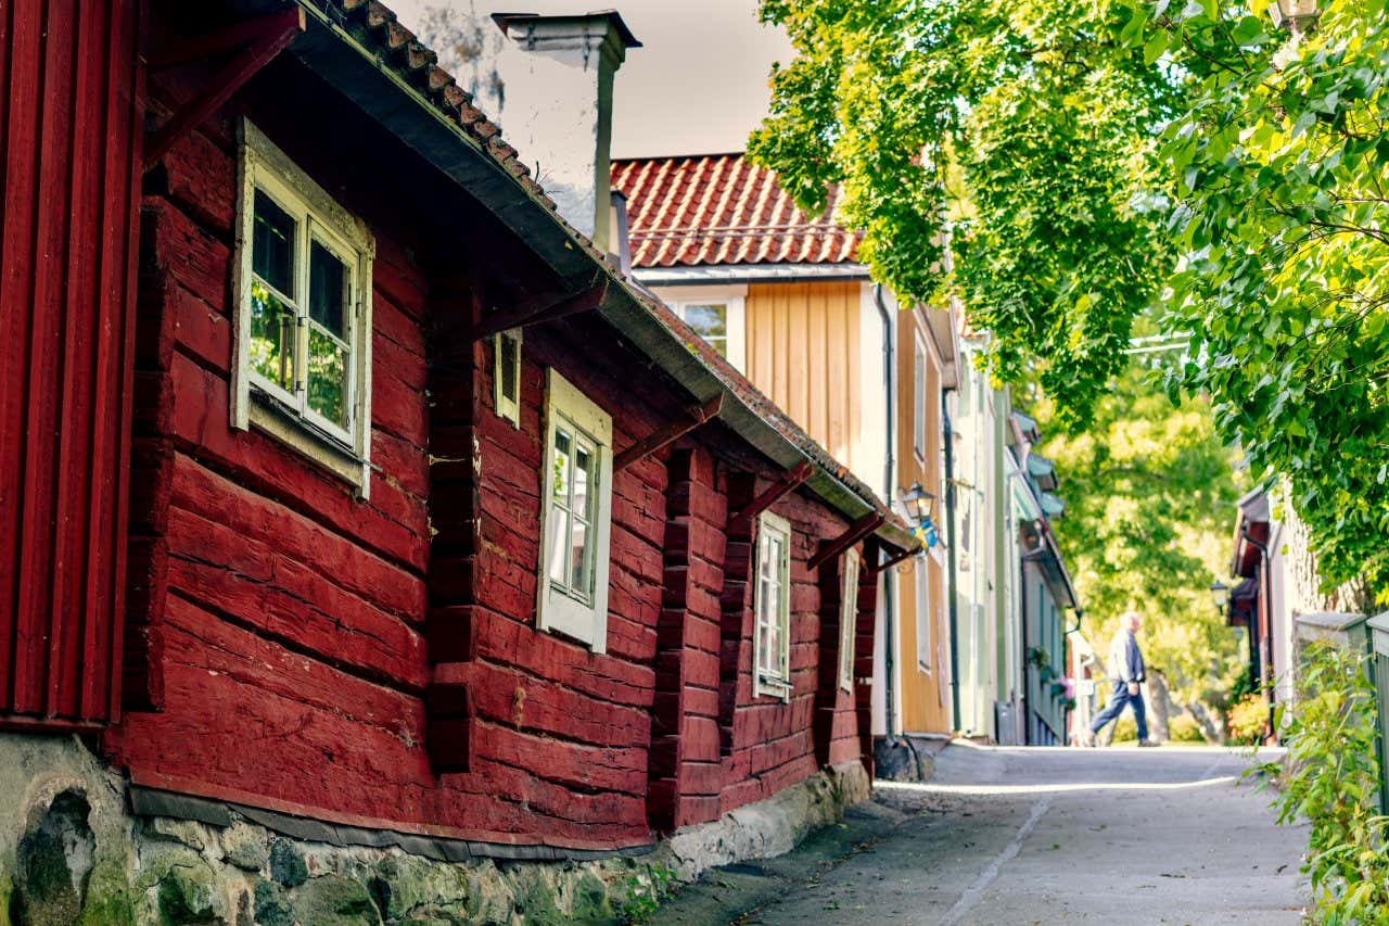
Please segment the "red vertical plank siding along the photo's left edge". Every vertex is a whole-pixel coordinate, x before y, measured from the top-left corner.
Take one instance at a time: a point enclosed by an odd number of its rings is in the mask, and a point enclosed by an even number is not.
[[[118,716],[136,0],[0,10],[0,724]]]

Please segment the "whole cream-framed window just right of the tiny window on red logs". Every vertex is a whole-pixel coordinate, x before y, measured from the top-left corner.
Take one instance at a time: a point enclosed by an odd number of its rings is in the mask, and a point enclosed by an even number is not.
[[[606,652],[613,419],[554,370],[544,410],[538,626]]]

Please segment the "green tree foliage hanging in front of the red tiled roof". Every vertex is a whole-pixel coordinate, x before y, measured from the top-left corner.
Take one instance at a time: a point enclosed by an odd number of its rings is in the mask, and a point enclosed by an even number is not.
[[[772,75],[750,156],[864,229],[874,277],[957,293],[992,370],[1039,375],[1083,421],[1122,367],[1168,260],[1154,127],[1174,85],[1117,0],[763,0],[797,57]],[[953,273],[943,245],[951,242]]]

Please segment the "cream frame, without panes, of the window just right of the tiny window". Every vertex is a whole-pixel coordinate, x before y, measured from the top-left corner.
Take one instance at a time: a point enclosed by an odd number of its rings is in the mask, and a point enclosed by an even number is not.
[[[613,417],[583,395],[553,367],[546,370],[544,456],[540,457],[540,549],[536,569],[536,627],[586,644],[593,652],[607,652],[608,555],[613,530]],[[556,528],[554,503],[546,474],[554,466],[558,423],[564,420],[593,444],[594,484],[590,488],[593,514],[589,530],[589,601],[581,601],[550,578],[550,534]]]

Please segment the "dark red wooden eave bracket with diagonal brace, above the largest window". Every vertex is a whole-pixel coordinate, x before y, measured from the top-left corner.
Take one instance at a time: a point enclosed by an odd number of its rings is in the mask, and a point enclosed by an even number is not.
[[[304,10],[294,6],[151,51],[146,58],[150,71],[164,71],[225,51],[235,50],[236,54],[208,78],[201,92],[149,135],[144,143],[144,170],[158,164],[176,140],[232,99],[276,54],[288,49],[306,29],[306,24]]]

